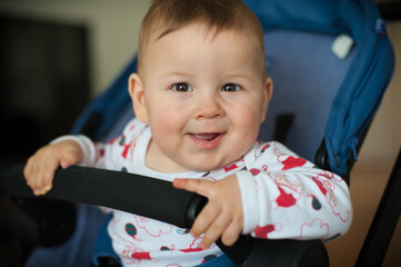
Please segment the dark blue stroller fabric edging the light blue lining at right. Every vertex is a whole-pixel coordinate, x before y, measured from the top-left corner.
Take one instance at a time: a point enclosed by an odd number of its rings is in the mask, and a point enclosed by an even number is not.
[[[331,170],[345,174],[347,161],[372,120],[394,68],[385,23],[375,4],[370,0],[250,0],[248,4],[265,30],[285,28],[352,38],[353,59],[332,100],[324,130]]]

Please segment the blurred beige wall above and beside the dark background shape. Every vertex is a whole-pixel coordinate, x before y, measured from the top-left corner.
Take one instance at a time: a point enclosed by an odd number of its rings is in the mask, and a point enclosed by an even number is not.
[[[2,0],[0,14],[86,27],[91,96],[103,90],[138,49],[150,0]]]

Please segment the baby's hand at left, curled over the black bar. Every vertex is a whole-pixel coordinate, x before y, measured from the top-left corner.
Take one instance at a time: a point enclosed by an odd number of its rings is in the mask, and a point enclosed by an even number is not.
[[[73,140],[64,140],[40,148],[28,159],[23,169],[28,186],[33,194],[44,195],[52,187],[56,170],[80,164],[83,152],[80,145]]]

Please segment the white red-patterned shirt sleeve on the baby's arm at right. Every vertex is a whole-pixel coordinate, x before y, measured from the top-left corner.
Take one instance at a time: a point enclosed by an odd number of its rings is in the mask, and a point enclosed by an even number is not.
[[[243,234],[261,238],[331,240],[348,231],[348,185],[278,142],[258,144],[237,172]]]

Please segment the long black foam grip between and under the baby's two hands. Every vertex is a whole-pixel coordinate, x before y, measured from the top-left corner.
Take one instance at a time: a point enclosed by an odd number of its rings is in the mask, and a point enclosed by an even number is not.
[[[0,190],[14,197],[34,197],[23,178],[22,165],[13,166],[1,177]],[[110,207],[181,228],[191,227],[202,208],[200,204],[207,202],[204,197],[176,189],[169,181],[77,166],[58,170],[52,189],[42,198]]]

